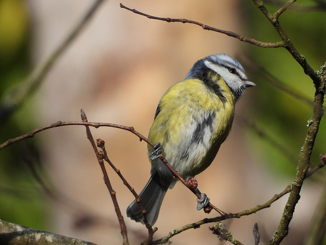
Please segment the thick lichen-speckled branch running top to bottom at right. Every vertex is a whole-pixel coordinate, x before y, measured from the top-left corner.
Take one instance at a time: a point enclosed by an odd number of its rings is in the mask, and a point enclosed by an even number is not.
[[[303,181],[306,177],[306,174],[309,170],[310,166],[310,158],[311,152],[314,147],[316,135],[318,132],[318,128],[320,125],[320,120],[323,115],[323,100],[325,94],[325,81],[326,76],[325,70],[323,71],[323,76],[319,75],[318,72],[314,71],[312,67],[307,63],[305,57],[296,50],[294,45],[291,43],[288,38],[286,32],[282,29],[279,23],[279,16],[281,13],[287,9],[287,7],[292,4],[294,1],[288,1],[284,7],[282,7],[279,11],[274,14],[271,14],[267,8],[265,7],[262,0],[252,0],[257,8],[261,10],[261,12],[266,16],[269,22],[274,26],[275,30],[278,32],[282,41],[285,44],[285,48],[291,53],[292,57],[299,63],[304,69],[305,74],[310,76],[313,80],[316,92],[313,101],[313,113],[308,121],[308,131],[306,135],[306,139],[304,141],[304,145],[302,147],[300,159],[297,164],[297,172],[294,181],[291,184],[291,192],[288,198],[288,201],[284,207],[284,212],[282,215],[282,219],[280,221],[279,227],[277,231],[274,233],[274,236],[270,239],[268,244],[280,244],[280,242],[284,239],[288,234],[288,226],[293,217],[294,208],[300,199],[300,192]]]

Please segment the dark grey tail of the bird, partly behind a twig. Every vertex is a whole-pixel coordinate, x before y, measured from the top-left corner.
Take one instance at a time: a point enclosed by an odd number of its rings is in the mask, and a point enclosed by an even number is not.
[[[146,218],[149,224],[154,225],[159,209],[165,194],[167,193],[168,186],[164,186],[159,181],[159,175],[157,172],[153,173],[149,178],[142,192],[139,194],[141,198],[141,204],[146,210]],[[136,200],[134,200],[127,208],[127,216],[131,220],[136,222],[143,222],[143,214]]]

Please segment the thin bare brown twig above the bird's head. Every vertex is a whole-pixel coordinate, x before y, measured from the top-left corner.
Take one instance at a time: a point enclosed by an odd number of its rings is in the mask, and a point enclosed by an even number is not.
[[[180,22],[180,23],[189,23],[189,24],[199,25],[204,30],[222,33],[222,34],[225,34],[225,35],[227,35],[229,37],[236,38],[236,39],[238,39],[238,40],[240,40],[242,42],[254,44],[254,45],[259,46],[259,47],[264,47],[264,48],[265,47],[270,47],[270,48],[271,47],[273,47],[273,48],[284,47],[284,43],[283,42],[275,42],[275,43],[271,43],[271,42],[260,42],[260,41],[257,41],[255,39],[252,39],[252,38],[241,36],[241,35],[236,34],[234,32],[230,32],[230,31],[225,31],[225,30],[213,28],[212,26],[209,26],[209,25],[206,25],[206,24],[203,24],[203,23],[194,21],[194,20],[189,20],[189,19],[184,19],[184,18],[174,19],[174,18],[156,17],[156,16],[153,16],[153,15],[142,13],[142,12],[140,12],[138,10],[135,10],[135,9],[130,9],[130,8],[124,6],[123,4],[120,4],[120,7],[123,8],[123,9],[129,10],[129,11],[135,13],[135,14],[139,14],[139,15],[145,16],[145,17],[147,17],[149,19],[162,20],[162,21],[166,21],[166,22]]]

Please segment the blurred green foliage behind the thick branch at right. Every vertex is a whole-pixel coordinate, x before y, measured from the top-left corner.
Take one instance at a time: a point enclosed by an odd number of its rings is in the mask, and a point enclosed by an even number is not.
[[[294,6],[302,6],[302,4],[313,5],[310,1],[301,1],[295,3]],[[279,9],[278,6],[273,5],[266,5],[266,7],[271,12]],[[246,36],[259,41],[280,41],[273,26],[250,1],[246,3],[244,16],[248,18]],[[298,12],[290,8],[281,15],[279,20],[297,50],[306,57],[314,69],[319,70],[326,57],[326,43],[324,42],[326,25],[321,24],[326,23],[324,12]],[[250,138],[255,137],[252,141],[254,144],[252,148],[255,149],[253,155],[259,155],[257,158],[259,164],[268,165],[278,174],[284,173],[293,177],[305,140],[312,107],[302,99],[294,98],[275,88],[266,77],[270,73],[284,83],[281,87],[288,86],[311,102],[314,99],[313,83],[310,77],[304,74],[302,67],[282,48],[263,49],[251,45],[247,53],[250,54],[251,60],[255,60],[255,64],[260,65],[260,68],[249,73],[250,78],[257,84],[253,98],[255,106],[251,112],[252,120],[266,134],[257,137],[255,130],[249,134]],[[319,164],[319,154],[324,154],[326,151],[324,144],[320,142],[325,137],[326,129],[321,124],[312,155],[312,167]],[[280,150],[279,146],[273,144],[269,138],[276,141],[283,149]]]

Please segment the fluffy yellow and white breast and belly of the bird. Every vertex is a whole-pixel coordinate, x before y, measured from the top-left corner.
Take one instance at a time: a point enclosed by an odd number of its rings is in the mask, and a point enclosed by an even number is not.
[[[162,97],[149,140],[160,142],[167,160],[187,178],[214,159],[231,129],[234,100],[231,94],[221,100],[197,80],[184,87],[180,84]]]

